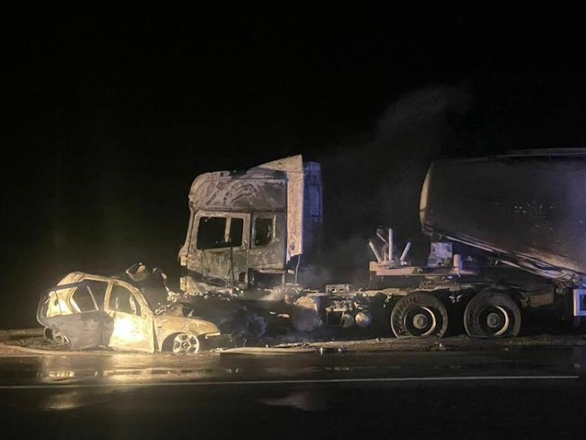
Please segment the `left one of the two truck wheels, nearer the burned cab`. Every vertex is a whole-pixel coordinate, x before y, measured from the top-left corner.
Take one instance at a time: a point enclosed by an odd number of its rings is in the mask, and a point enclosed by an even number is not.
[[[391,328],[398,338],[441,338],[447,330],[447,310],[434,295],[414,292],[400,299],[394,306]]]

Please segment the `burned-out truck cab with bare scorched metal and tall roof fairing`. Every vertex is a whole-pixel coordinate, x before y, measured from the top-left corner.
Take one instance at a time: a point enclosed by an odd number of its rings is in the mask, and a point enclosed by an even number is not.
[[[300,155],[194,180],[179,252],[187,295],[283,299],[285,275],[322,223],[321,170]]]

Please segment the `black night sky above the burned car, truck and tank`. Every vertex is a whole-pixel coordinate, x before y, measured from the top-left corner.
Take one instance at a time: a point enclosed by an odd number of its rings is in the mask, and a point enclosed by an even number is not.
[[[71,270],[176,279],[201,172],[320,161],[363,273],[376,226],[421,239],[432,159],[586,146],[583,10],[230,12],[6,19],[0,328]]]

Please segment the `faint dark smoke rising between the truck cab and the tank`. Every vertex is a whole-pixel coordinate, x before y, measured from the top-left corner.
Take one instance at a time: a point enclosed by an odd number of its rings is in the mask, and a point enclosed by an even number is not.
[[[465,88],[414,90],[390,103],[361,139],[320,157],[326,236],[321,260],[330,268],[329,281],[367,281],[368,261],[374,259],[367,239],[377,226],[394,228],[398,247],[412,241],[412,257],[427,255],[418,217],[423,179],[458,137],[454,121],[471,107]]]

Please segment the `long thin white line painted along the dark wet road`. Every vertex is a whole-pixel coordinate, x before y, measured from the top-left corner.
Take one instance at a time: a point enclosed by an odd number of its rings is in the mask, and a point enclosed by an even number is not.
[[[227,386],[227,385],[296,385],[303,383],[380,383],[380,382],[441,382],[441,381],[527,381],[567,380],[579,376],[447,376],[447,377],[372,377],[347,379],[290,379],[263,381],[201,381],[201,382],[142,382],[142,383],[54,383],[36,385],[2,385],[0,390],[48,390],[51,388],[146,388],[165,386]]]

